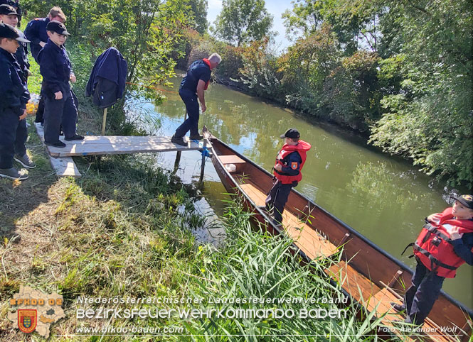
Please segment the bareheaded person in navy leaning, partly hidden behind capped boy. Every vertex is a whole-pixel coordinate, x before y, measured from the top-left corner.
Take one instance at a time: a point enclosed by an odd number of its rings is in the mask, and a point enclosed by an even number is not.
[[[25,35],[28,40],[31,41],[30,48],[31,48],[31,55],[33,58],[38,62],[38,53],[41,49],[46,45],[48,42],[48,33],[46,32],[46,26],[52,20],[60,21],[61,23],[65,23],[65,14],[60,7],[53,7],[51,11],[49,11],[48,16],[46,18],[34,18],[32,21],[28,23],[25,29]],[[39,62],[38,62],[39,64]],[[43,123],[44,113],[44,94],[43,94],[43,87],[41,87],[41,99],[38,104],[38,111],[36,111],[36,119],[35,122]]]

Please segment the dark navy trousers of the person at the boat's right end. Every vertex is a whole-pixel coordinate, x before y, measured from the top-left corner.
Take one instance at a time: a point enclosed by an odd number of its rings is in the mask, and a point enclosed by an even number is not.
[[[412,285],[404,295],[408,321],[413,324],[424,323],[425,318],[439,297],[445,277],[439,277],[418,261],[415,267]]]

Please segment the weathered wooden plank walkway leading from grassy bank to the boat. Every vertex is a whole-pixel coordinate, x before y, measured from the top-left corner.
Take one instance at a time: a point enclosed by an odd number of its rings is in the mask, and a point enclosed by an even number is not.
[[[65,148],[48,146],[53,157],[188,151],[203,147],[203,143],[194,141],[188,141],[187,146],[177,145],[165,136],[85,136],[79,141],[65,141],[63,137],[60,140],[66,144]]]

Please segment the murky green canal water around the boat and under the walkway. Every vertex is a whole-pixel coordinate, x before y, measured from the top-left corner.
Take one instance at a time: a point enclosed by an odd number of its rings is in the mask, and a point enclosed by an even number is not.
[[[166,89],[167,100],[159,106],[144,107],[152,112],[161,128],[156,134],[171,136],[184,120],[185,106],[177,89],[181,77],[171,80],[174,89]],[[416,170],[405,160],[390,157],[368,146],[366,140],[336,126],[321,124],[292,111],[267,104],[219,84],[206,91],[207,111],[201,114],[199,129],[205,124],[232,148],[270,170],[282,146],[280,135],[287,128],[297,128],[301,138],[312,145],[297,190],[334,216],[355,228],[403,263],[415,261],[400,253],[415,241],[427,215],[447,206],[450,190]],[[157,156],[159,165],[172,169],[175,153]],[[184,182],[196,182],[200,175],[201,154],[182,153],[178,175]],[[204,214],[221,214],[228,199],[225,189],[206,162],[203,199]],[[221,234],[209,229],[203,238],[211,241]],[[376,262],[376,260],[373,260]],[[472,267],[463,265],[453,280],[445,280],[443,289],[467,307],[473,308]]]

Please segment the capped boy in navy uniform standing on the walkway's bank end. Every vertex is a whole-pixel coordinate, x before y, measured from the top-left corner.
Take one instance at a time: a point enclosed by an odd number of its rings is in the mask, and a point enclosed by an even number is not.
[[[65,39],[70,34],[60,21],[50,21],[46,31],[48,43],[38,54],[45,98],[44,142],[61,148],[65,147],[65,143],[59,140],[60,126],[63,127],[65,140],[83,140],[84,137],[75,132],[78,111],[69,81],[75,82],[76,79],[64,48]]]

